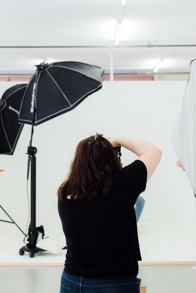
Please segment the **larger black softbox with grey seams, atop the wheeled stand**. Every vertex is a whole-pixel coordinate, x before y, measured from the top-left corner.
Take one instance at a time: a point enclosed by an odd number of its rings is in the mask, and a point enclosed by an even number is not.
[[[68,112],[99,90],[102,81],[102,68],[94,65],[70,61],[43,62],[37,66],[27,86],[19,122],[39,125]]]

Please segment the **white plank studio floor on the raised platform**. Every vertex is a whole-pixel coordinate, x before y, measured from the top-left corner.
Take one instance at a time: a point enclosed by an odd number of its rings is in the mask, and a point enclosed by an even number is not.
[[[25,222],[17,222],[24,231]],[[0,265],[63,265],[66,243],[61,222],[37,222],[43,225],[45,237],[49,236],[58,245],[58,252],[48,251],[19,255],[24,246],[24,235],[14,224],[0,222]],[[196,223],[195,221],[140,221],[138,237],[142,261],[140,265],[150,264],[191,264],[196,265]]]

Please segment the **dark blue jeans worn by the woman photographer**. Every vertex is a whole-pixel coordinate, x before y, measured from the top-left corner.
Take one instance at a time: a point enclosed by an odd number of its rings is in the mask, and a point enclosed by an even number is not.
[[[94,280],[69,275],[63,271],[60,293],[139,293],[137,277]]]

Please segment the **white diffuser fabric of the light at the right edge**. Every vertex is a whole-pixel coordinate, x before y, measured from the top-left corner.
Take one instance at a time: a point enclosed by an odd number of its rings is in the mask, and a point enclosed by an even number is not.
[[[189,80],[170,140],[196,192],[196,60],[191,62]]]

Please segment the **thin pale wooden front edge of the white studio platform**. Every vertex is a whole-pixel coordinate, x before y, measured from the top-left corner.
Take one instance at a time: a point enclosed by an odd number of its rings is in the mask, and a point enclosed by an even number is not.
[[[138,262],[138,265],[196,265],[195,261],[160,261],[160,262]],[[17,267],[17,266],[61,266],[64,267],[64,263],[0,263],[0,267]]]

